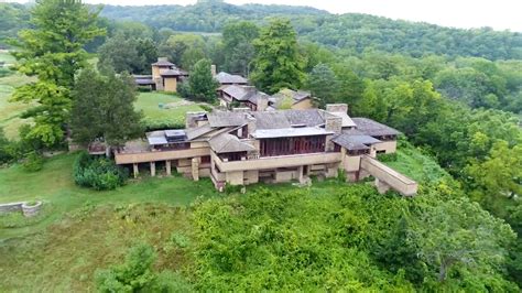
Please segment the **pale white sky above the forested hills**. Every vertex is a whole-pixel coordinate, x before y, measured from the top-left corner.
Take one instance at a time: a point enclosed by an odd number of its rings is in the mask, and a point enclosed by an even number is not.
[[[0,0],[1,1],[1,0]],[[21,0],[23,1],[23,0]],[[309,6],[331,13],[359,12],[454,28],[491,26],[522,32],[522,0],[225,0],[232,4]],[[84,0],[122,6],[192,4],[196,0]]]

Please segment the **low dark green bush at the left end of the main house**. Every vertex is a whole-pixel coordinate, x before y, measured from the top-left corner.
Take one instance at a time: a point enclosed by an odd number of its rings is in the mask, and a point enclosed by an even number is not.
[[[105,191],[123,185],[129,172],[111,160],[94,158],[83,152],[75,161],[73,175],[79,186]]]

